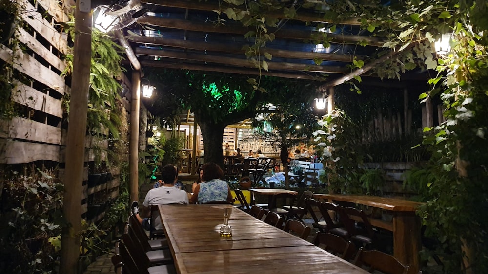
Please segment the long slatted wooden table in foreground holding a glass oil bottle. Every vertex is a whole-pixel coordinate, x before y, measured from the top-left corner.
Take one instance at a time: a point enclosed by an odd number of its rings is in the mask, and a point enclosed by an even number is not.
[[[235,207],[232,237],[220,237],[225,210],[216,206],[159,206],[178,273],[367,273]]]

